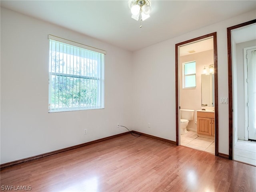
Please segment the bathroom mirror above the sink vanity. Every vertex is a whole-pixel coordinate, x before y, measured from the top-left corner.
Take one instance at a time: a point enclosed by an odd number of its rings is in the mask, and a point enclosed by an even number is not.
[[[214,107],[214,74],[201,75],[202,106]]]

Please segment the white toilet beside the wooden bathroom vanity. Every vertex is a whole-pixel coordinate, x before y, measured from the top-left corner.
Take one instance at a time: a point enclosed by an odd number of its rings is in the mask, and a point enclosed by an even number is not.
[[[184,135],[187,131],[188,122],[193,120],[194,110],[180,109],[180,134]]]

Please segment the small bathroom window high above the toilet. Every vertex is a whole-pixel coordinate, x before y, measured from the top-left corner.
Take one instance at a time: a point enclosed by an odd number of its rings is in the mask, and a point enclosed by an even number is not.
[[[183,63],[183,88],[196,88],[196,62]]]

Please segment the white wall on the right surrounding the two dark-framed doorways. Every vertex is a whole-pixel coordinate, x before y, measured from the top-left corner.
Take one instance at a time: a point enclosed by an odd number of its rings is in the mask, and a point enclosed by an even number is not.
[[[194,30],[133,54],[134,130],[176,140],[175,44],[217,32],[218,96],[228,97],[227,28],[255,19],[255,11]],[[178,26],[174,26],[178,27]],[[228,154],[228,105],[219,100],[219,152]],[[147,127],[147,123],[151,127]]]

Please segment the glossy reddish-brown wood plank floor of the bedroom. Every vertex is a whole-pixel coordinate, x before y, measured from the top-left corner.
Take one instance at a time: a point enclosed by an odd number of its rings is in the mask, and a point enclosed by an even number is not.
[[[255,180],[254,166],[130,134],[1,170],[1,189],[33,192],[255,192]]]

